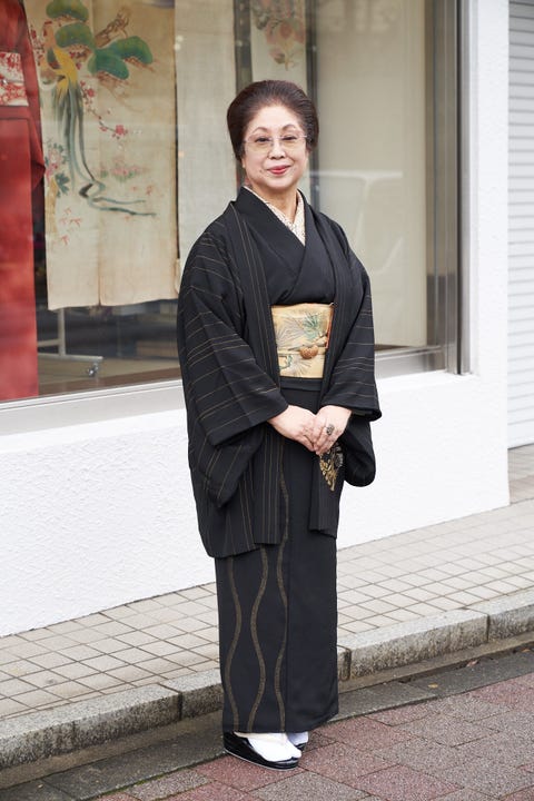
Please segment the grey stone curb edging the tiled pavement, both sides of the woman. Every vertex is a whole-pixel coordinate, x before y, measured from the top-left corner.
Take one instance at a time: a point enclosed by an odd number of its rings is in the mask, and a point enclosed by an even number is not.
[[[344,637],[339,679],[402,668],[423,660],[534,632],[534,590],[469,609]],[[0,770],[37,762],[220,710],[218,670],[134,688],[0,722]]]

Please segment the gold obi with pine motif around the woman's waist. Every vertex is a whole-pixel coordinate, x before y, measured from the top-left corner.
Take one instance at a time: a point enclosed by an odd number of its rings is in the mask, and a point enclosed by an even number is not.
[[[280,376],[323,378],[333,304],[271,306]]]

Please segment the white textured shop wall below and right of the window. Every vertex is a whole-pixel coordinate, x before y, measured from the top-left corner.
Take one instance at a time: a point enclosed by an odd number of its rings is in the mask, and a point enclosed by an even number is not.
[[[507,2],[471,8],[473,373],[380,382],[378,476],[370,487],[346,488],[342,547],[508,500]],[[179,406],[177,393],[176,411],[0,439],[0,634],[212,580]]]

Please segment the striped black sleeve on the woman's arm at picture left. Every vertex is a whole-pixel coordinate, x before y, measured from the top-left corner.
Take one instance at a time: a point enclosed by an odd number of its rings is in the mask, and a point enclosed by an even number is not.
[[[287,408],[246,340],[246,315],[225,243],[206,231],[187,260],[178,298],[178,350],[188,414],[214,447]]]

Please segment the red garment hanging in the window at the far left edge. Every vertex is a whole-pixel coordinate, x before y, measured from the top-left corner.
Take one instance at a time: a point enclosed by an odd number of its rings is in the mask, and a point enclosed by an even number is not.
[[[44,165],[36,66],[19,0],[0,2],[0,58],[22,73],[11,85],[0,75],[0,400],[8,400],[39,388],[32,192]],[[24,96],[27,105],[9,105]]]

